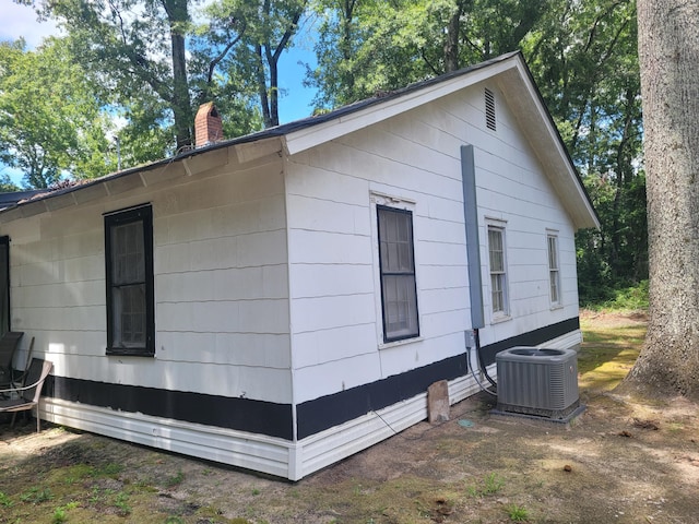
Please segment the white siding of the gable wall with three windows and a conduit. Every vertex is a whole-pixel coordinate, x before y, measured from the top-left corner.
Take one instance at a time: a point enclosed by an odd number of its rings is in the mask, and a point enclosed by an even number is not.
[[[474,144],[484,297],[485,218],[507,221],[511,319],[489,344],[577,315],[571,223],[497,86],[483,85],[294,155],[287,166],[295,402],[369,383],[464,350],[470,327],[460,146]],[[376,198],[414,213],[420,337],[382,344]],[[548,301],[546,229],[559,231],[565,307]],[[489,311],[489,309],[488,309]]]

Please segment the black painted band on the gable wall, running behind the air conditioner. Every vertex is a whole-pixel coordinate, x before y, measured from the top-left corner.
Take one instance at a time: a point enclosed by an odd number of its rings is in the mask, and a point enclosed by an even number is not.
[[[536,346],[579,327],[580,322],[576,317],[489,344],[482,348],[485,364],[495,362],[495,355],[503,349],[513,346]],[[296,407],[298,439],[411,398],[427,391],[427,388],[438,380],[452,380],[466,372],[466,359],[462,354],[370,384],[304,402]]]

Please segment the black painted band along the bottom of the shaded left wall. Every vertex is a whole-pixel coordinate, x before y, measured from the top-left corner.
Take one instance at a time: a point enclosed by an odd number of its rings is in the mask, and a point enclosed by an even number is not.
[[[293,439],[291,404],[51,376],[46,391],[63,401]]]

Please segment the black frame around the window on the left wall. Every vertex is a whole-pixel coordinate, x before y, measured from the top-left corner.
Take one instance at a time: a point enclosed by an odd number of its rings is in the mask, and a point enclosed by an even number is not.
[[[104,214],[105,218],[105,285],[107,297],[107,355],[154,357],[155,356],[155,278],[153,273],[153,207],[142,204]],[[143,347],[114,346],[114,311],[111,286],[111,235],[114,226],[143,222],[145,255],[145,345]]]

